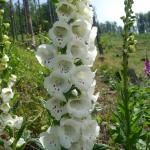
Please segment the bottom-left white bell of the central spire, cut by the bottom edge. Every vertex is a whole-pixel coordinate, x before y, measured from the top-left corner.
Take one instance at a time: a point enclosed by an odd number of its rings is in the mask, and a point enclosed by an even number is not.
[[[46,150],[61,150],[57,135],[58,127],[52,127],[47,132],[40,134],[40,142]]]

